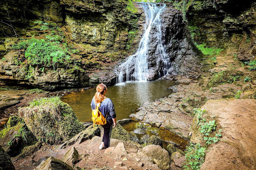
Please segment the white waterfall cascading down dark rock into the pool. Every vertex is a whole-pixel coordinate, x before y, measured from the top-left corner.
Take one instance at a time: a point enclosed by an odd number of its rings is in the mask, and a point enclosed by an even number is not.
[[[145,13],[145,25],[144,34],[139,43],[137,52],[130,55],[127,60],[122,63],[117,69],[117,83],[124,81],[147,81],[149,77],[149,67],[147,62],[147,52],[149,45],[149,35],[152,27],[155,27],[157,32],[157,49],[155,56],[157,57],[156,65],[159,69],[159,77],[166,75],[170,67],[169,58],[165,52],[165,48],[162,43],[161,33],[161,19],[160,14],[165,8],[165,4],[153,4],[153,3],[140,3]],[[160,66],[162,65],[162,67]],[[133,68],[134,67],[134,68]],[[119,71],[119,73],[118,73]],[[124,77],[125,75],[125,77]]]

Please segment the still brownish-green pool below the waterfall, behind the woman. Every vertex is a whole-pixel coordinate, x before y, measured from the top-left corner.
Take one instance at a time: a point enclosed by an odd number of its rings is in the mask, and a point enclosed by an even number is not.
[[[131,113],[146,101],[154,101],[171,94],[168,87],[175,85],[174,81],[157,80],[145,82],[125,82],[107,87],[106,97],[109,97],[114,105],[117,120],[129,118]],[[61,100],[68,103],[79,121],[91,121],[91,100],[96,92],[96,88],[86,89],[82,92],[65,95]]]

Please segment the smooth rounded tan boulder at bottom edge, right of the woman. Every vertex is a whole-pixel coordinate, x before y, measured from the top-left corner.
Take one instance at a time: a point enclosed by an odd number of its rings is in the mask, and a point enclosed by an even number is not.
[[[148,145],[142,151],[149,156],[157,166],[162,170],[169,170],[170,158],[167,150],[161,148],[159,145]]]

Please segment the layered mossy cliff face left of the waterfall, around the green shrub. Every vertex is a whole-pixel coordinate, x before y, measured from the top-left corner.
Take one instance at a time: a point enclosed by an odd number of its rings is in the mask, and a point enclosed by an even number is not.
[[[0,81],[44,89],[93,85],[92,72],[127,55],[128,32],[137,29],[142,13],[125,0],[10,0],[0,6]],[[60,46],[79,47],[71,63],[57,68],[32,65],[22,58],[22,51],[13,50],[24,38],[45,39],[42,35],[52,34],[40,30],[34,23],[38,20],[57,24],[64,35]]]

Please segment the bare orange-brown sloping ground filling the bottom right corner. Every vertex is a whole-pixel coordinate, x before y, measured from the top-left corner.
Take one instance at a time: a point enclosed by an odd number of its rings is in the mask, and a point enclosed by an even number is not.
[[[206,153],[201,169],[255,169],[256,100],[209,100],[202,109],[217,117],[223,137]]]

